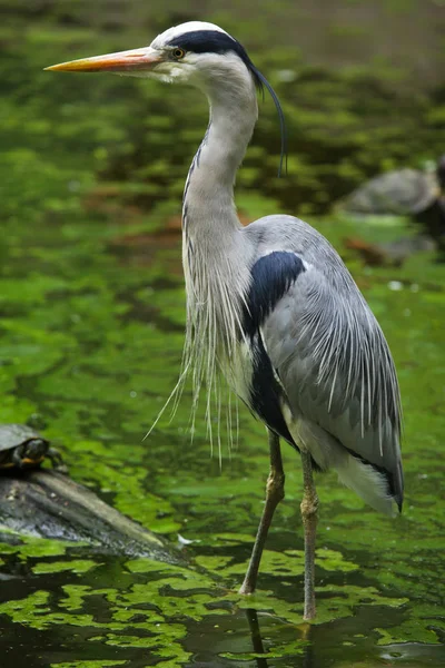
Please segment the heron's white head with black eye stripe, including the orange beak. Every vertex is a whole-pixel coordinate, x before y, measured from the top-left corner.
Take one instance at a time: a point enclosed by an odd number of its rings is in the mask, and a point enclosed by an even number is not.
[[[200,88],[229,77],[236,85],[258,72],[244,47],[228,32],[202,21],[169,28],[148,47],[53,65],[46,69],[75,72],[113,72],[161,81],[182,81]],[[247,70],[247,71],[246,71]]]

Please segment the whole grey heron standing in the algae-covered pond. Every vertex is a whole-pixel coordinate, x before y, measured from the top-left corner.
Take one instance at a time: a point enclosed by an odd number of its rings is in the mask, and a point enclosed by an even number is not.
[[[150,46],[56,65],[187,82],[208,98],[209,125],[182,203],[187,291],[185,371],[210,393],[219,373],[266,424],[266,502],[240,591],[255,590],[274,511],[284,498],[279,439],[300,452],[305,619],[315,617],[318,498],[313,471],[334,468],[373,508],[402,509],[400,400],[384,334],[348,269],[313,227],[287,215],[243,227],[236,171],[258,116],[256,89],[277,96],[244,47],[212,23],[190,21]],[[283,153],[281,153],[283,159]]]

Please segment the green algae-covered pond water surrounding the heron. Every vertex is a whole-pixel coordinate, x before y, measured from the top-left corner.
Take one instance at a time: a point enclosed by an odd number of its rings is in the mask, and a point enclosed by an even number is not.
[[[380,19],[369,22],[369,4],[340,3],[323,49],[320,40],[310,49],[306,36],[305,50],[294,39],[299,26],[320,31],[323,2],[319,16],[307,3],[264,2],[254,19],[247,3],[209,3],[205,17],[249,47],[288,118],[289,175],[278,180],[275,110],[260,105],[238,179],[243,217],[298,213],[336,245],[387,335],[402,386],[404,514],[379,517],[334,474],[318,479],[318,619],[307,631],[298,456],[285,449],[286,500],[258,592],[241,599],[236,591],[268,470],[264,428],[240,409],[231,452],[222,426],[220,468],[202,413],[190,439],[186,392],[175,420],[166,414],[142,441],[180,366],[177,226],[206,102],[152,82],[42,71],[144,45],[194,8],[1,0],[0,422],[40,422],[75,480],[144,525],[195,541],[186,550],[205,569],[4,533],[2,665],[445,664],[445,269],[434,253],[413,255],[402,267],[363,266],[345,237],[387,242],[413,235],[413,225],[329,214],[330,203],[367,176],[422,166],[445,147],[443,7],[379,2]],[[419,33],[409,35],[413,47],[423,47],[424,69],[402,48],[406,26],[416,23],[409,17],[418,17]],[[385,51],[387,23],[394,57]],[[431,38],[422,41],[426,26]]]

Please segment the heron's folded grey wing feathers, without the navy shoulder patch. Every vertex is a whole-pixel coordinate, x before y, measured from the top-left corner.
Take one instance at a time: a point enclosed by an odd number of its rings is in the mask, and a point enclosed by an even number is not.
[[[329,275],[306,265],[263,323],[261,335],[291,420],[295,425],[305,425],[306,433],[317,441],[317,463],[322,468],[334,465],[340,478],[340,464],[350,468],[358,461],[368,478],[370,465],[386,477],[386,497],[400,507],[397,376],[377,321],[343,269]],[[347,464],[345,458],[339,458],[342,453],[353,455]],[[362,473],[357,469],[347,475]],[[367,498],[366,490],[360,490],[369,481],[348,482],[347,475],[346,484],[377,508],[373,494]]]

